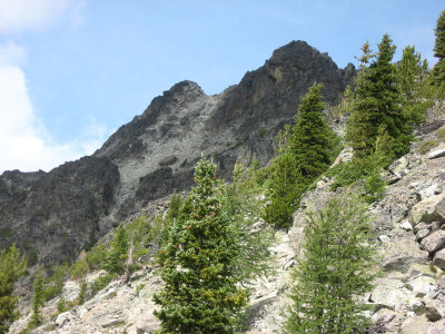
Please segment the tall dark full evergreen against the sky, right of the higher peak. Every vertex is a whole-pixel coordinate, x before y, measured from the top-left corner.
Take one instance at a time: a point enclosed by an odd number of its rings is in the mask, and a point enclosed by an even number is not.
[[[360,59],[372,58],[368,47]],[[355,110],[347,128],[346,139],[357,157],[365,157],[375,150],[375,143],[382,126],[394,138],[393,151],[396,156],[408,149],[409,127],[400,106],[400,90],[397,85],[397,68],[392,62],[395,46],[388,35],[384,35],[378,52],[368,68],[363,68],[355,81]]]

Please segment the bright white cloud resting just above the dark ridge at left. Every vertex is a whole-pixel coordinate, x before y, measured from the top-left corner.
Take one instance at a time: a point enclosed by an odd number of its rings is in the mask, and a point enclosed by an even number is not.
[[[23,59],[24,51],[19,46],[0,46],[0,173],[49,170],[99,148],[110,131],[93,118],[78,140],[51,140],[28,96],[26,77],[18,66]]]

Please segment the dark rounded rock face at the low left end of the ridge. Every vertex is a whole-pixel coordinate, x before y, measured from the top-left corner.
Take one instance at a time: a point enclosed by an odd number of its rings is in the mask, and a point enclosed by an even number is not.
[[[43,264],[73,258],[96,242],[120,186],[117,166],[86,157],[51,173],[0,176],[0,248],[17,243]],[[31,263],[32,264],[32,263]]]

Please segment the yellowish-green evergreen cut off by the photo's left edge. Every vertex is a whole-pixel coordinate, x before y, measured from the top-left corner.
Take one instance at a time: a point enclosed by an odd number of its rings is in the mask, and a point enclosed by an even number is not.
[[[27,269],[24,255],[12,245],[0,252],[0,334],[8,332],[9,324],[17,318],[17,296],[13,284]]]

